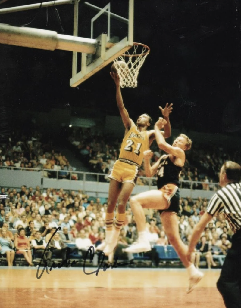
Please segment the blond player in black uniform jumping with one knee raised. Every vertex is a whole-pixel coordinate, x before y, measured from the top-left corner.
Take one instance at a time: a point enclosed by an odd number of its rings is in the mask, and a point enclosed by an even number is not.
[[[181,240],[178,228],[177,213],[179,210],[179,174],[185,163],[185,151],[192,146],[192,141],[181,134],[174,140],[173,144],[167,144],[163,136],[159,133],[162,125],[162,118],[155,124],[156,142],[160,149],[167,152],[153,165],[150,165],[150,158],[153,153],[148,150],[144,153],[144,168],[146,176],[151,177],[157,173],[157,188],[140,193],[131,197],[130,205],[135,217],[138,230],[138,241],[136,244],[123,249],[125,252],[138,253],[151,250],[148,241],[147,232],[145,230],[145,214],[143,208],[159,209],[162,224],[169,242],[177,251],[183,265],[189,273],[188,293],[203,277],[195,266],[187,259],[187,246]]]

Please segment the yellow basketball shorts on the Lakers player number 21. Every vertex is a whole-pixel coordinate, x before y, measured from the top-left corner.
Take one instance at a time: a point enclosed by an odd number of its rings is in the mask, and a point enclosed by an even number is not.
[[[118,182],[130,182],[135,186],[139,175],[139,167],[116,160],[108,178]]]

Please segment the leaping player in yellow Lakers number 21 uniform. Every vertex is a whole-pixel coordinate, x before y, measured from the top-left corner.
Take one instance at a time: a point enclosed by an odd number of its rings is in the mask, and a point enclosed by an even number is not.
[[[111,72],[110,75],[116,84],[117,106],[126,130],[119,158],[114,163],[109,176],[110,186],[106,210],[106,240],[97,247],[98,250],[104,249],[103,251],[106,255],[110,255],[117,245],[120,229],[125,221],[126,204],[135,186],[139,168],[143,161],[143,152],[149,149],[149,146],[155,139],[155,131],[147,131],[147,128],[152,123],[151,117],[146,113],[142,114],[139,116],[136,124],[130,119],[123,104],[119,76],[114,72]],[[167,103],[164,109],[159,108],[164,116],[163,127],[165,129],[162,133],[164,138],[168,138],[171,135],[169,114],[172,112],[172,104],[168,106]],[[114,223],[116,203],[118,203],[118,209]]]

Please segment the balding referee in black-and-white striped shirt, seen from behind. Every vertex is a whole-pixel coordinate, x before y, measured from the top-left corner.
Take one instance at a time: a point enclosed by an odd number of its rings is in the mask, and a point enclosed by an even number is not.
[[[217,282],[226,308],[241,307],[241,166],[233,161],[223,164],[219,185],[222,187],[211,198],[206,213],[194,228],[188,249],[188,259],[213,216],[224,213],[232,231],[232,247],[228,250]]]

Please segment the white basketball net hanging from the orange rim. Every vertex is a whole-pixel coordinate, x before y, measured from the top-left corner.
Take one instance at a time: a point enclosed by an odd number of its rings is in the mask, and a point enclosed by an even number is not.
[[[124,61],[127,64],[127,68],[125,69],[116,65],[116,70],[120,77],[120,86],[122,88],[137,87],[137,76],[139,74],[139,70],[142,67],[149,52],[150,49],[148,47],[134,43],[130,50],[114,59],[114,63],[117,61]]]

